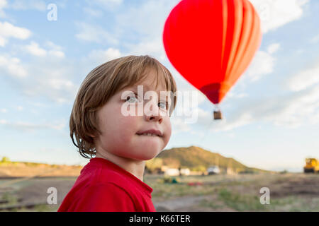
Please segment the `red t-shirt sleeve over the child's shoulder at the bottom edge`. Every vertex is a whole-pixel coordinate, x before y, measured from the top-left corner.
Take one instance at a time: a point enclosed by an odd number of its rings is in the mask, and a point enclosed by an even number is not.
[[[116,184],[87,186],[79,198],[76,212],[135,212],[130,195]]]

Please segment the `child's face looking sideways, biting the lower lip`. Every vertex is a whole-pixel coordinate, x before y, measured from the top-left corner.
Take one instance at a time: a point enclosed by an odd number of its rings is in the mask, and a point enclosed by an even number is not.
[[[103,155],[104,152],[133,160],[150,160],[156,157],[167,145],[172,133],[169,118],[169,109],[165,109],[164,103],[169,97],[162,98],[160,91],[166,91],[164,84],[160,83],[155,90],[155,73],[150,71],[145,81],[132,87],[119,91],[98,111],[99,129],[102,135],[96,138],[96,150]],[[149,90],[157,93],[144,100],[143,96],[135,96],[125,91],[138,94],[137,87],[142,85],[143,93]],[[154,94],[154,93],[153,93]],[[124,99],[124,100],[123,100]],[[150,107],[150,103],[154,103]],[[125,107],[123,107],[125,105]],[[138,105],[142,105],[142,114],[138,114]],[[123,114],[123,109],[136,109],[135,115]],[[162,136],[139,135],[142,131],[155,129]]]

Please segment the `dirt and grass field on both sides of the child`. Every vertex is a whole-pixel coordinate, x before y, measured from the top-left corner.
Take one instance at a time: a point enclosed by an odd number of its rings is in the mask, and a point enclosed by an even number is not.
[[[56,211],[77,177],[0,179],[0,211]],[[236,174],[175,177],[145,175],[157,211],[319,211],[319,174]],[[194,182],[197,182],[197,184]],[[190,184],[193,183],[193,184]],[[47,189],[57,204],[47,204]],[[269,204],[260,189],[269,189]]]

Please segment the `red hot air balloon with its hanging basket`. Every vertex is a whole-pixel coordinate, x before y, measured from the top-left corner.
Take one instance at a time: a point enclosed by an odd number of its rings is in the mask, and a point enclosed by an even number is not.
[[[164,24],[169,61],[217,106],[250,65],[262,41],[260,19],[247,0],[182,0]]]

